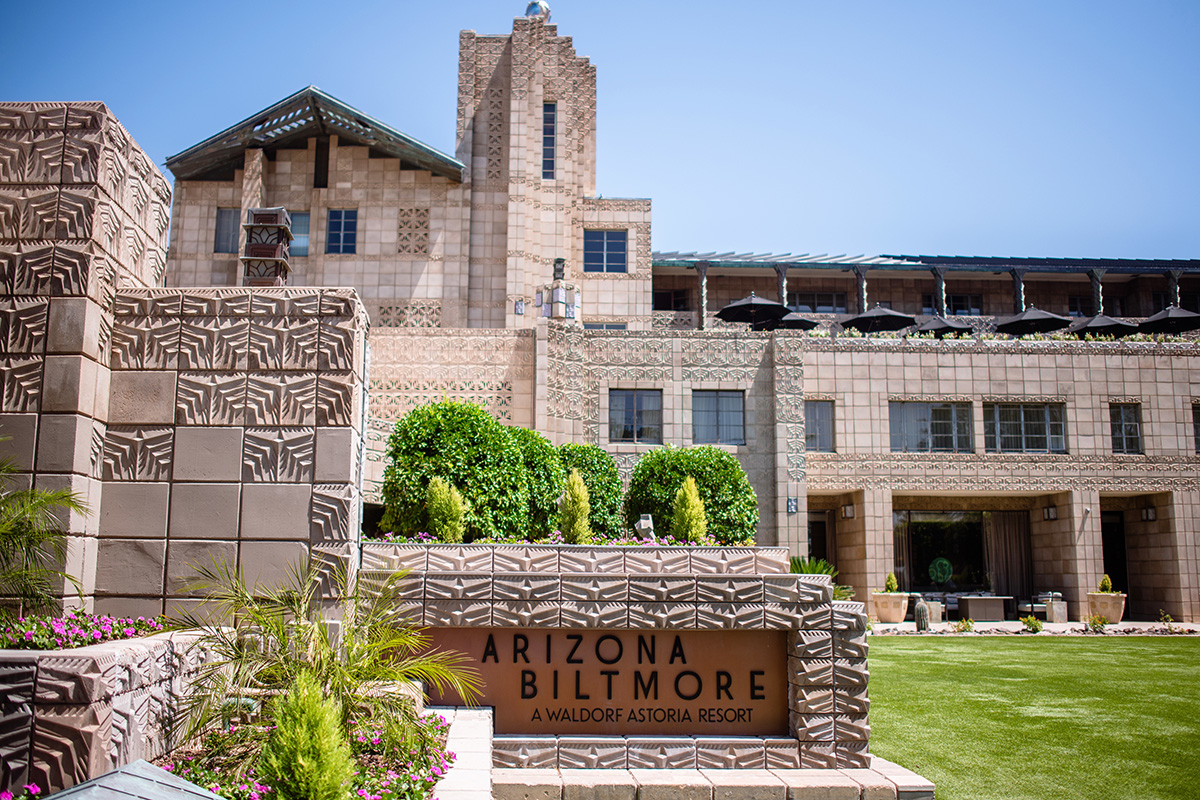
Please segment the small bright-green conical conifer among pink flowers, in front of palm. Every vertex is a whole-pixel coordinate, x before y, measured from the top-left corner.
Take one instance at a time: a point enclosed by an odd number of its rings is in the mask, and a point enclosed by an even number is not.
[[[260,757],[263,778],[280,800],[338,800],[348,796],[350,748],[342,709],[320,684],[300,673],[274,703],[271,732]]]

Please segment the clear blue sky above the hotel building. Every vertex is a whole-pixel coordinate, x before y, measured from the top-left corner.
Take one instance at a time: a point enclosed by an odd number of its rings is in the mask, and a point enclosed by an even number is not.
[[[526,4],[5,5],[0,100],[102,100],[161,164],[308,84],[452,152],[458,30]],[[1195,0],[551,6],[656,249],[1200,258]]]

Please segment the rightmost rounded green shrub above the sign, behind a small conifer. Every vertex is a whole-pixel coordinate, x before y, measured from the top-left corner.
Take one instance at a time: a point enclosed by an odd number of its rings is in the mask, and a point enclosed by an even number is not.
[[[758,527],[758,501],[738,459],[719,447],[656,447],[634,465],[625,495],[625,524],[643,515],[655,530],[668,530],[674,495],[688,476],[696,479],[708,515],[708,533],[721,545],[750,545]]]

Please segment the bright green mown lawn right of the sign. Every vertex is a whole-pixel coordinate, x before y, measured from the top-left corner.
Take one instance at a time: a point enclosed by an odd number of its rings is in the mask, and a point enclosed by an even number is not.
[[[1200,798],[1198,637],[870,637],[871,752],[938,800]]]

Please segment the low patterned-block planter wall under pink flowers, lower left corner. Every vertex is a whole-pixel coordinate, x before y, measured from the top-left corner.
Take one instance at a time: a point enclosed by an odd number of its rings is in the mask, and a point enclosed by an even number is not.
[[[200,666],[192,640],[0,650],[0,788],[58,792],[167,752],[178,698]]]

